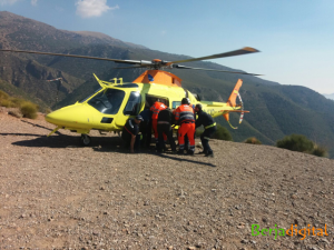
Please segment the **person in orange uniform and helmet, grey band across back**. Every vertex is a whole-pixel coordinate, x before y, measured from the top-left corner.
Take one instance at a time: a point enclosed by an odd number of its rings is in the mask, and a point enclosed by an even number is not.
[[[184,153],[185,150],[185,134],[188,136],[190,147],[188,149],[188,154],[195,153],[195,116],[194,109],[190,106],[189,98],[184,98],[181,100],[181,106],[179,106],[175,111],[175,121],[178,122],[179,129],[177,132],[179,154]]]

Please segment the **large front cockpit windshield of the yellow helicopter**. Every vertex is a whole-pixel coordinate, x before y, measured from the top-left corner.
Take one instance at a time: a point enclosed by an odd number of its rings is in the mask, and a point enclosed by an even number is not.
[[[116,114],[124,100],[125,92],[118,89],[107,89],[88,101],[88,104],[106,114]]]

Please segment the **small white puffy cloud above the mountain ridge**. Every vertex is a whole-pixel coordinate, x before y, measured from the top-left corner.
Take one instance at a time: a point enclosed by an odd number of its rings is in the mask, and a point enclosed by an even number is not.
[[[76,6],[77,14],[81,18],[100,17],[104,12],[108,10],[119,9],[118,6],[107,6],[107,0],[78,0],[76,2]]]

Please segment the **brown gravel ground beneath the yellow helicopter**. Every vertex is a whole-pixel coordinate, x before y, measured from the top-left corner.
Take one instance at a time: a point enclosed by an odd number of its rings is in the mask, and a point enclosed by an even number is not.
[[[130,154],[97,131],[81,148],[69,131],[47,138],[55,127],[42,114],[7,111],[1,249],[334,249],[333,160],[216,140],[215,158]],[[252,236],[252,224],[326,224],[328,236],[275,240]]]

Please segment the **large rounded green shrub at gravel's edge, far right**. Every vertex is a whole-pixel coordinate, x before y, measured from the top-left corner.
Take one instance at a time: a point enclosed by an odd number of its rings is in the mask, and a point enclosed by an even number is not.
[[[292,151],[308,153],[311,153],[314,148],[313,141],[308,140],[305,136],[302,134],[286,136],[282,140],[278,140],[276,142],[276,146],[278,148],[288,149]]]

